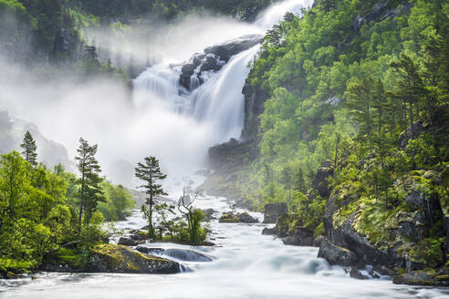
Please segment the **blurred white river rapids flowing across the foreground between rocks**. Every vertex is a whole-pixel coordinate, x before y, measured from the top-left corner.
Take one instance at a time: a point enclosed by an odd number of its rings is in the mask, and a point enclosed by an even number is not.
[[[228,210],[225,199],[196,201],[201,208]],[[260,213],[252,213],[261,218]],[[135,214],[121,227],[140,228]],[[0,298],[82,299],[225,299],[225,298],[447,298],[448,289],[395,285],[391,281],[355,280],[338,266],[318,259],[317,248],[284,245],[261,235],[262,224],[212,222],[216,246],[191,247],[151,243],[204,253],[213,262],[182,262],[192,271],[172,274],[47,273],[36,280],[0,281]],[[2,285],[3,284],[3,285]],[[7,284],[7,286],[6,286]]]

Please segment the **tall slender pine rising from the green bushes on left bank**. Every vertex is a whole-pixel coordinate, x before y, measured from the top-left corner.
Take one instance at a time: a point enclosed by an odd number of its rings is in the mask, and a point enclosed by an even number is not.
[[[78,160],[78,170],[81,175],[78,192],[78,225],[80,229],[83,215],[84,224],[88,224],[92,213],[97,210],[99,201],[105,201],[105,199],[99,186],[99,183],[102,181],[99,177],[101,169],[99,161],[95,159],[98,147],[97,145],[89,146],[88,141],[82,138],[79,139],[79,143],[79,148],[77,149],[79,156],[75,160]]]

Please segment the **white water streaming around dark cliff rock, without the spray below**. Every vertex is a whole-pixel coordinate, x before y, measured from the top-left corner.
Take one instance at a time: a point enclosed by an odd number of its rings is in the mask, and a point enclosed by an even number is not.
[[[273,5],[253,25],[236,31],[235,38],[248,32],[261,34],[277,24],[287,12],[300,13],[302,7],[311,3],[308,0],[287,0]],[[206,148],[230,138],[239,138],[245,117],[242,88],[249,73],[248,64],[256,57],[259,47],[252,46],[231,57],[218,72],[202,72],[198,77],[199,70],[195,69],[188,88],[180,84],[182,70],[179,62],[165,57],[163,63],[148,68],[134,80],[134,107],[143,114],[151,109],[163,108],[165,113],[193,119],[198,126],[207,128],[208,134],[204,134],[204,139],[200,141],[205,146],[198,147],[197,152],[193,153],[204,157]],[[173,66],[176,64],[178,67]],[[169,160],[176,159],[171,157]],[[197,165],[196,168],[202,166]]]

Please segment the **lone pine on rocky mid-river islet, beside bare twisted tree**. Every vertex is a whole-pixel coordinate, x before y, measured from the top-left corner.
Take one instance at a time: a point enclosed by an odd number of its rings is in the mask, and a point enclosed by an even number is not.
[[[142,211],[145,213],[145,217],[148,219],[150,237],[154,236],[154,228],[152,225],[152,212],[156,204],[156,197],[159,195],[167,195],[162,189],[162,185],[158,183],[159,180],[165,180],[166,174],[162,173],[159,166],[159,160],[154,157],[146,157],[143,163],[137,163],[137,167],[134,169],[136,177],[145,181],[145,184],[138,188],[143,188],[148,195],[145,205],[142,205]]]

